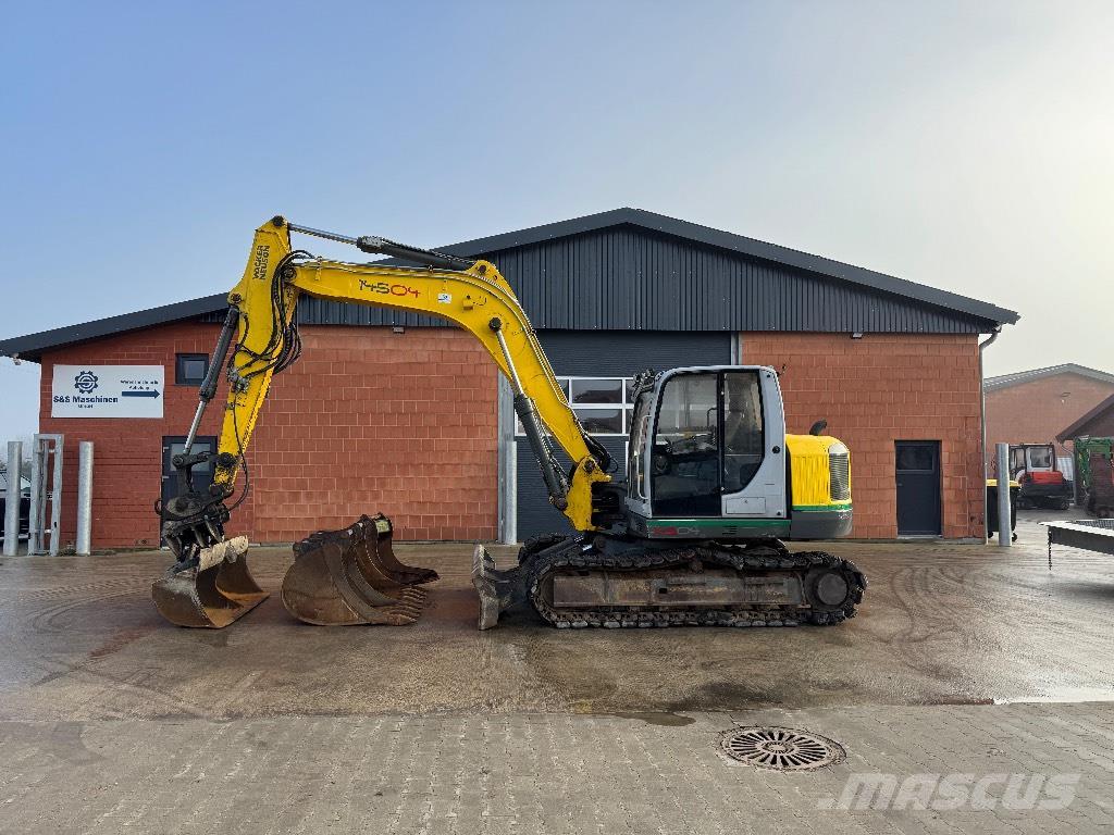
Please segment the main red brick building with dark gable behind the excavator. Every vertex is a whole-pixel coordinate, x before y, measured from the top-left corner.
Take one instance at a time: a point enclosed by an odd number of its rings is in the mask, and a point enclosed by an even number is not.
[[[981,538],[978,340],[1017,314],[636,209],[441,248],[499,266],[617,477],[635,373],[768,364],[789,431],[824,419],[851,448],[854,536]],[[42,365],[40,431],[66,436],[66,494],[77,441],[96,443],[95,547],[157,542],[156,485],[173,472],[224,306],[215,295],[0,342],[0,354]],[[375,511],[404,539],[564,527],[516,440],[505,381],[463,331],[314,298],[296,315],[303,357],[274,380],[231,529],[289,542]],[[166,370],[162,418],[51,416],[56,366],[129,365]],[[219,418],[206,415],[203,443],[215,444]],[[61,529],[71,540],[72,503]]]

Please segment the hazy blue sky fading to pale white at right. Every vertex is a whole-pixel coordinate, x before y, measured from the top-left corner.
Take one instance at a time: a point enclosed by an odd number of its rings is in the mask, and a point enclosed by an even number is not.
[[[227,289],[274,214],[438,245],[634,206],[1016,310],[988,374],[1114,371],[1114,2],[3,20],[0,337]],[[37,382],[0,360],[0,440]]]

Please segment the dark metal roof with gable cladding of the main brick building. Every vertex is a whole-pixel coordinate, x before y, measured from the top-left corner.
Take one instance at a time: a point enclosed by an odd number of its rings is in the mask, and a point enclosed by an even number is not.
[[[986,302],[632,208],[439,249],[495,262],[539,330],[989,333],[1018,318]],[[37,361],[45,351],[125,331],[218,322],[224,307],[223,294],[205,296],[6,340],[0,354]],[[303,298],[297,317],[319,325],[446,324],[317,298]]]

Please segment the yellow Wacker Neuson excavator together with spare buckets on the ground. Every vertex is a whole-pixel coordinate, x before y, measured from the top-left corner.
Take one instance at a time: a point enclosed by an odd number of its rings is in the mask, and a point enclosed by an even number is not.
[[[293,248],[295,233],[392,261],[316,257]],[[773,369],[639,374],[619,480],[617,462],[582,426],[495,264],[274,217],[256,230],[228,294],[185,448],[173,460],[177,495],[159,508],[175,563],[155,582],[154,599],[172,622],[221,628],[266,597],[247,570],[246,538],[226,538],[224,525],[243,497],[232,502],[237,473],[247,480],[245,455],[272,376],[299,357],[303,295],[448,318],[509,381],[549,501],[576,532],[530,539],[510,568],[476,546],[481,629],[520,605],[558,628],[822,626],[854,615],[867,587],[862,572],[831,553],[785,546],[849,534],[850,453],[823,434],[822,422],[807,435],[786,434]],[[218,450],[194,452],[222,373],[228,394]],[[203,464],[214,471],[207,490],[193,478]],[[391,536],[389,520],[363,517],[297,543],[283,582],[286,608],[311,623],[412,622],[422,606],[418,587],[436,573],[399,562]]]

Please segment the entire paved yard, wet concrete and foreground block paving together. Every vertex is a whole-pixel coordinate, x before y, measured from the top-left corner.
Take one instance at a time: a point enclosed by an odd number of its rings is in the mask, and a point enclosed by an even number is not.
[[[480,633],[444,544],[398,549],[444,578],[413,627],[183,630],[165,554],[4,560],[0,832],[1114,832],[1114,563],[1019,530],[833,547],[871,587],[828,629]],[[847,762],[719,752],[763,723]]]

